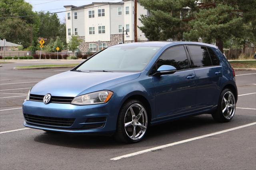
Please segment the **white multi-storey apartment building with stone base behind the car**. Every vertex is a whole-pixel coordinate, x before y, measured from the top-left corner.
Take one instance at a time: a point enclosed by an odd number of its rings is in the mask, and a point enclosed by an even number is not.
[[[123,42],[134,42],[134,0],[111,3],[92,2],[84,6],[64,6],[66,8],[66,40],[77,35],[84,40],[80,51],[96,52],[105,47]],[[137,4],[137,25],[142,26],[139,18],[148,16],[148,10]],[[138,41],[147,41],[144,33],[137,28]]]

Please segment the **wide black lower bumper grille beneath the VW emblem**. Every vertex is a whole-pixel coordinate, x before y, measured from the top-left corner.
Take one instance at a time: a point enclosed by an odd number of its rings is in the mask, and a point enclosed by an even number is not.
[[[45,117],[45,116],[36,116],[36,115],[28,115],[24,114],[25,121],[27,123],[34,123],[40,125],[51,125],[58,127],[71,127],[75,121],[75,119],[67,119],[67,118],[56,118],[56,117]]]

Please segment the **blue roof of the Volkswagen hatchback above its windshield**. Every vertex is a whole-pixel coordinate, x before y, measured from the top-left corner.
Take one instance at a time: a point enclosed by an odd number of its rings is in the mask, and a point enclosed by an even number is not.
[[[204,45],[204,46],[208,46],[208,47],[214,47],[214,48],[218,48],[216,45],[212,45],[212,44],[208,44],[208,43],[200,43],[200,42],[162,42],[162,41],[158,41],[158,42],[135,42],[135,43],[124,43],[124,44],[119,44],[119,45],[114,45],[112,47],[123,47],[123,46],[127,46],[127,47],[132,47],[132,46],[152,46],[152,47],[171,47],[174,45]]]

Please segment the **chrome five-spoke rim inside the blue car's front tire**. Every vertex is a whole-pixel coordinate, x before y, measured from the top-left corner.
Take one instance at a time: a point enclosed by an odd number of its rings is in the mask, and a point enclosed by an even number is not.
[[[146,132],[148,126],[148,116],[146,109],[138,104],[132,104],[124,116],[124,129],[132,140],[139,140]]]

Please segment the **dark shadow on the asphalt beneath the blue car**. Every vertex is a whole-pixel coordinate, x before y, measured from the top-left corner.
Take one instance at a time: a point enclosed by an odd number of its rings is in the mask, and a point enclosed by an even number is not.
[[[177,140],[183,140],[184,133],[196,129],[207,128],[215,125],[211,115],[200,115],[196,117],[186,117],[176,121],[152,126],[141,142],[135,144],[124,144],[114,140],[112,136],[88,136],[83,134],[67,134],[55,132],[43,132],[34,138],[34,141],[64,146],[70,148],[136,148],[145,146],[156,146]],[[190,136],[190,135],[186,135]],[[167,141],[166,141],[167,140]]]

